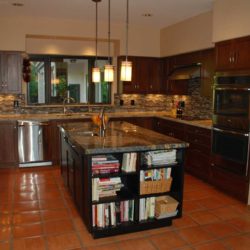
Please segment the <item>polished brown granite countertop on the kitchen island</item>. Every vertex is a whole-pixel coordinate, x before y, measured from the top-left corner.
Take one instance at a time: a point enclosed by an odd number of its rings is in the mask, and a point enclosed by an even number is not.
[[[98,128],[94,128],[92,122],[67,123],[60,127],[69,136],[69,140],[80,146],[85,154],[173,149],[189,146],[186,142],[127,122],[110,122],[105,137],[98,135]],[[91,136],[89,132],[96,135]]]

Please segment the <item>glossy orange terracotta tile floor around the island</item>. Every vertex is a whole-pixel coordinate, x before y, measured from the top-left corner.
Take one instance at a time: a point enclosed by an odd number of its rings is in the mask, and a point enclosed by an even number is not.
[[[0,169],[0,250],[250,249],[250,209],[185,175],[184,211],[171,227],[94,240],[59,168]]]

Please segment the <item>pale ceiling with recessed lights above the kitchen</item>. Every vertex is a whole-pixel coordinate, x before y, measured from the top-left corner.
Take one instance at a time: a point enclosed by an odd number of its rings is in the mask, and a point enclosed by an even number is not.
[[[163,28],[210,11],[214,0],[130,0],[130,24]],[[13,3],[22,3],[14,7]],[[108,0],[98,4],[99,20],[107,21]],[[126,0],[111,0],[111,22],[125,22]],[[150,13],[151,17],[143,14]],[[0,16],[95,20],[92,0],[0,0]]]

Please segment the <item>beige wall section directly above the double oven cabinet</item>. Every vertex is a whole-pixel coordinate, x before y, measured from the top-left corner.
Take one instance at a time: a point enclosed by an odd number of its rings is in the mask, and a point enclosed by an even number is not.
[[[250,35],[250,0],[215,0],[213,41]]]

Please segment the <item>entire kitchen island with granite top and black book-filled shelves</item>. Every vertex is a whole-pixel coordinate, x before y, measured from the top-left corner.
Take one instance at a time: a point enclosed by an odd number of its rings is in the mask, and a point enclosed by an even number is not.
[[[60,135],[62,178],[94,238],[182,216],[187,143],[118,121],[105,137],[91,122],[62,124]]]

